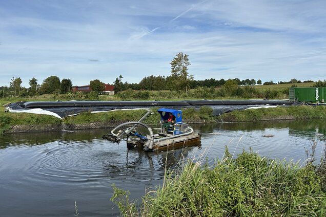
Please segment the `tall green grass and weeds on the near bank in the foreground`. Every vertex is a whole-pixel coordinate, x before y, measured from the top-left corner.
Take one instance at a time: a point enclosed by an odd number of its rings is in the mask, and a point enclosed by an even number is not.
[[[140,210],[128,191],[115,186],[111,200],[123,216],[325,216],[321,165],[300,168],[243,151],[213,166],[188,162],[148,192]]]

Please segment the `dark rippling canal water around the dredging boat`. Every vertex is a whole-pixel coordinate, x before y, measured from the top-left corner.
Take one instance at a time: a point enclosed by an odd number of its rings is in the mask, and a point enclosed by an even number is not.
[[[315,142],[320,159],[326,124],[320,120],[194,124],[201,145],[145,153],[128,150],[101,137],[109,129],[0,136],[0,216],[119,216],[110,201],[111,185],[131,192],[131,199],[161,185],[165,168],[182,158],[214,164],[225,146],[234,157],[242,150],[299,161]],[[75,207],[76,202],[76,207]]]

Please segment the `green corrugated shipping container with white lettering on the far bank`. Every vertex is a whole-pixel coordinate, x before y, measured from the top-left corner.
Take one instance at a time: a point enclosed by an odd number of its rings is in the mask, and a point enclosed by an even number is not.
[[[290,88],[290,101],[326,102],[326,87]]]

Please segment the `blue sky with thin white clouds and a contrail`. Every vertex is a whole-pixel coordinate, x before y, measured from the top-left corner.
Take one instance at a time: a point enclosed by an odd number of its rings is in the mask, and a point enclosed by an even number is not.
[[[171,75],[177,53],[204,79],[326,79],[325,0],[0,0],[0,86]]]

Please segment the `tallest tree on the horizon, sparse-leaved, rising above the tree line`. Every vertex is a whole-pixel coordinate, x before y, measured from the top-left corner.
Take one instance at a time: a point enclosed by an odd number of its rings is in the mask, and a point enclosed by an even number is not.
[[[182,52],[178,53],[176,57],[170,62],[172,88],[174,90],[186,90],[188,95],[189,83],[194,79],[193,75],[189,75],[188,67],[191,65],[188,55]]]

